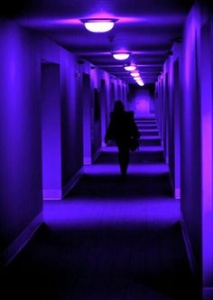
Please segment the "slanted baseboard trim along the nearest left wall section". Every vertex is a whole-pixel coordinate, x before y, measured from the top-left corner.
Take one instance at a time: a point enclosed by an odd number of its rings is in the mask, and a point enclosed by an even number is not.
[[[43,215],[42,211],[32,220],[32,222],[23,230],[23,232],[14,239],[14,242],[5,249],[2,254],[1,265],[2,267],[7,266],[23,249],[23,247],[32,239],[33,234],[42,225]]]

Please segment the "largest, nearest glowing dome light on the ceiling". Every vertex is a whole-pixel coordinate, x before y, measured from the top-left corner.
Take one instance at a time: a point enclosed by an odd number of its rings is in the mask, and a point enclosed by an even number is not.
[[[115,25],[117,19],[81,19],[82,23],[84,23],[85,27],[91,33],[106,33],[109,32]]]

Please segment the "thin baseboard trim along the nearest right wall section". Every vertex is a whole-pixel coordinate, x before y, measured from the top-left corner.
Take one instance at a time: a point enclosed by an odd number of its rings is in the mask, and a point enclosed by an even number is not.
[[[194,257],[194,253],[192,251],[190,237],[189,237],[187,227],[186,227],[186,223],[185,223],[185,220],[183,218],[182,213],[181,213],[181,231],[182,231],[182,236],[183,236],[184,243],[185,243],[186,250],[187,250],[187,256],[188,256],[188,259],[189,259],[189,262],[190,262],[190,269],[191,269],[191,272],[192,272],[193,276],[196,277],[196,274],[197,274],[197,272],[196,272],[196,270],[197,270],[196,260],[195,260],[195,257]]]

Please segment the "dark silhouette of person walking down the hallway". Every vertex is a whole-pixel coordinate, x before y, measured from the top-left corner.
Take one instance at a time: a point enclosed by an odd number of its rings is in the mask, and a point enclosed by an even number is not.
[[[130,139],[138,138],[140,133],[134,122],[134,112],[125,111],[122,101],[115,102],[114,111],[110,113],[110,122],[106,130],[105,143],[115,140],[118,148],[118,161],[123,177],[129,165]]]

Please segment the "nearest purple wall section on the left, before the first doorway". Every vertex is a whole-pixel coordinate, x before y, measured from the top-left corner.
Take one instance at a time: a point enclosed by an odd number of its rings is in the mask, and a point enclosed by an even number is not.
[[[2,22],[0,44],[3,249],[42,211],[42,123],[36,37]]]

